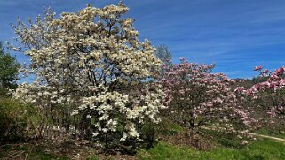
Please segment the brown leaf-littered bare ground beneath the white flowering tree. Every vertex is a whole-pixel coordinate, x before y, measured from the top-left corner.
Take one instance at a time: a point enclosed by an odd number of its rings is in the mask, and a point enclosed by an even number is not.
[[[99,159],[135,160],[130,155],[105,155],[98,146],[89,141],[28,141],[0,146],[0,159],[88,159],[98,156]]]

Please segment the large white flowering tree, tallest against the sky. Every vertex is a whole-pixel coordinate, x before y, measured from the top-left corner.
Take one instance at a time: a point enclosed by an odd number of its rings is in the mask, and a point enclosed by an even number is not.
[[[162,91],[141,85],[159,75],[161,61],[147,40],[139,42],[128,8],[119,3],[102,9],[88,5],[77,13],[51,10],[44,18],[14,26],[36,75],[14,95],[52,112],[64,106],[67,117],[82,117],[81,128],[95,139],[137,141],[144,123],[159,121]],[[75,109],[75,110],[74,110]]]

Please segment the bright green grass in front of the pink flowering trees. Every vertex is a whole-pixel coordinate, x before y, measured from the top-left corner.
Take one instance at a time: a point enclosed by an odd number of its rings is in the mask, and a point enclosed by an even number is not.
[[[241,149],[218,148],[210,151],[177,147],[159,142],[154,149],[140,150],[140,159],[285,159],[285,144],[270,140],[255,141]]]

